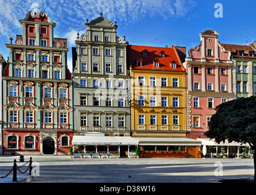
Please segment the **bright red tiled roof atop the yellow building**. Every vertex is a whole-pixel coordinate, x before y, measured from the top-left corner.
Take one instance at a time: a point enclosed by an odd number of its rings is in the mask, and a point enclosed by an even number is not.
[[[143,51],[147,51],[148,55],[144,56]],[[164,57],[161,57],[164,52]],[[133,69],[147,69],[156,71],[186,71],[182,65],[175,46],[170,48],[129,45],[128,53],[130,57],[130,66]],[[137,66],[137,60],[142,60],[142,66]],[[154,67],[154,61],[159,62],[159,68]],[[172,63],[176,63],[177,68],[172,68]]]

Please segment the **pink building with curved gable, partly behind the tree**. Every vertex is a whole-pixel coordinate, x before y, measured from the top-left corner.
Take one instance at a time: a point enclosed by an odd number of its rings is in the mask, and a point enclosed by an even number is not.
[[[183,63],[187,71],[188,138],[207,138],[204,132],[216,105],[235,98],[231,53],[225,51],[218,36],[214,30],[202,32],[200,44],[189,49]]]

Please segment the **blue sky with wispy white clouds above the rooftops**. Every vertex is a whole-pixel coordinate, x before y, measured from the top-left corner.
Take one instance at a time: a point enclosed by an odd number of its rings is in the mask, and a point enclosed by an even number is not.
[[[223,18],[214,8],[222,4]],[[200,43],[199,34],[215,30],[221,43],[249,44],[256,40],[255,0],[0,0],[0,52],[7,60],[5,43],[21,35],[19,19],[39,5],[56,23],[54,37],[68,38],[68,67],[76,34],[86,33],[86,19],[100,16],[117,21],[117,35],[130,44],[147,46],[186,46],[187,51]],[[71,69],[70,69],[71,70]]]

